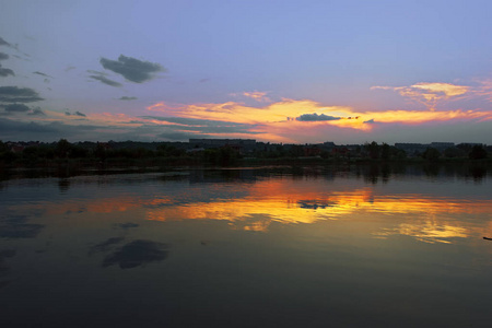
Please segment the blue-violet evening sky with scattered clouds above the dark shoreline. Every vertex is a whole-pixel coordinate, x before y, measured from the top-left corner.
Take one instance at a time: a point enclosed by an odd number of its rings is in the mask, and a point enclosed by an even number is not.
[[[2,0],[0,140],[492,144],[489,0]]]

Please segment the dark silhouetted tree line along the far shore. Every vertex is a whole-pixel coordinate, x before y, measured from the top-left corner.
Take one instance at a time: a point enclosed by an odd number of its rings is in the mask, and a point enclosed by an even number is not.
[[[483,160],[491,157],[483,144],[461,143],[445,150],[427,147],[423,152],[408,154],[385,142],[361,145],[276,144],[257,142],[254,149],[224,145],[198,149],[185,142],[58,142],[24,143],[19,149],[0,141],[0,163],[32,164],[43,161],[86,160],[92,162],[161,159],[168,162],[233,165],[242,160],[321,159],[333,161],[406,161],[421,159],[437,162],[450,159]]]

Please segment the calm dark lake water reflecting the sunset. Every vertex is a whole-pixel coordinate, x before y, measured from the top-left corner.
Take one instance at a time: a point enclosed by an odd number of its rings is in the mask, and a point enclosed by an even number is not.
[[[372,169],[2,180],[0,325],[489,327],[490,175]]]

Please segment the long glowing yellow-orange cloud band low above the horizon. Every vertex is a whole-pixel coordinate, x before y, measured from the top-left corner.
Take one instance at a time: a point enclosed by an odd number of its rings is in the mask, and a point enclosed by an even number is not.
[[[254,134],[257,140],[274,142],[323,141],[323,136],[328,133],[364,140],[367,133],[391,127],[426,125],[431,129],[440,124],[467,122],[472,126],[492,121],[490,110],[361,112],[345,106],[324,106],[309,99],[282,99],[257,107],[235,102],[174,106],[157,103],[148,110],[164,114],[162,118],[143,118],[155,124],[161,120],[166,133],[199,133],[209,138],[250,138]],[[207,122],[215,128],[209,128]]]

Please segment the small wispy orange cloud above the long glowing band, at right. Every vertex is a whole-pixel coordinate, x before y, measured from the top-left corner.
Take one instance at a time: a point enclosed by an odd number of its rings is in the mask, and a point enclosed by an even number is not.
[[[471,89],[465,85],[450,83],[429,83],[420,82],[410,86],[372,86],[371,90],[391,90],[398,92],[401,96],[423,104],[430,110],[435,110],[440,101],[456,98],[468,93]]]

